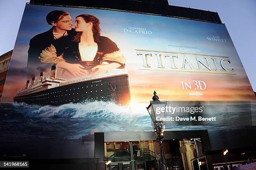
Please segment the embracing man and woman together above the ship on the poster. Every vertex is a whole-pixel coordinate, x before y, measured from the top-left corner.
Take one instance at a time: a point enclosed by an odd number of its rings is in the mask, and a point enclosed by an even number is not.
[[[100,36],[100,20],[95,16],[78,15],[75,29],[67,11],[51,11],[46,21],[53,27],[30,40],[27,66],[53,63],[67,78],[124,68],[123,54],[113,41]]]

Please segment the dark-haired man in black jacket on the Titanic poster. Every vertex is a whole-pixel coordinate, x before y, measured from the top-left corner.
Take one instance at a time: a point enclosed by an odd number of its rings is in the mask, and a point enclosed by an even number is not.
[[[53,27],[31,38],[27,66],[40,66],[42,64],[38,59],[40,53],[51,45],[55,47],[56,55],[61,56],[65,48],[67,48],[68,42],[76,35],[74,28],[72,28],[72,18],[67,11],[51,11],[46,16],[46,21],[49,25],[53,25]],[[61,60],[61,57],[59,59]]]

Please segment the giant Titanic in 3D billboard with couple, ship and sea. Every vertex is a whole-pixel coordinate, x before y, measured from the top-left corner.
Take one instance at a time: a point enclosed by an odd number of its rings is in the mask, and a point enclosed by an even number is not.
[[[168,101],[255,100],[224,24],[27,4],[1,101],[2,140],[93,157],[95,132],[152,130],[144,108],[154,91]]]

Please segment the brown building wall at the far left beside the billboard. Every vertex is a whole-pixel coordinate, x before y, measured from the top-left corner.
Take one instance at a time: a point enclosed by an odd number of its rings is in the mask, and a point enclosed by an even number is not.
[[[7,71],[10,65],[10,58],[13,54],[13,50],[8,51],[0,56],[0,101],[2,99],[3,88],[5,85],[5,79],[7,76]]]

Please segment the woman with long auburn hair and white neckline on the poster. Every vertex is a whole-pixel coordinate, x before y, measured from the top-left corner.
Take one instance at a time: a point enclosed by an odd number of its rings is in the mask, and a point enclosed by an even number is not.
[[[65,75],[86,76],[88,74],[100,74],[112,69],[122,69],[125,66],[125,58],[118,46],[109,38],[100,36],[100,20],[93,15],[81,14],[76,17],[74,41],[71,41],[64,51],[63,60],[57,67],[65,71]],[[42,51],[39,59],[48,62],[49,53],[54,51],[50,46]],[[57,56],[49,58],[52,60]],[[77,69],[77,64],[79,68]]]

